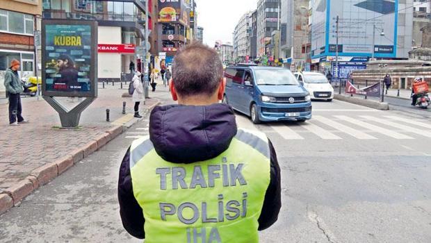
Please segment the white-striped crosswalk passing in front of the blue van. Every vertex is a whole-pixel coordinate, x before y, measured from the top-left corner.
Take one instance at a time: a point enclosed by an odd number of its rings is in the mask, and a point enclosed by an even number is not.
[[[236,115],[239,128],[277,133],[284,140],[395,140],[431,138],[431,122],[394,115],[314,115],[304,123],[253,124],[243,115]],[[149,134],[148,125],[127,132],[127,139]]]

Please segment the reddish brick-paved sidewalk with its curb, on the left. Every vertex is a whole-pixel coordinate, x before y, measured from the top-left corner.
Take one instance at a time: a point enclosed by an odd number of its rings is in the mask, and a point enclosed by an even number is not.
[[[0,104],[0,214],[120,135],[125,124],[138,121],[131,98],[122,98],[127,87],[99,85],[99,97],[82,113],[76,129],[58,128],[57,112],[42,98],[22,99],[23,117],[30,123],[19,126],[8,125],[8,105]],[[67,107],[79,103],[77,98],[61,100]],[[127,115],[122,115],[123,101]],[[157,104],[158,99],[147,99],[140,110]],[[106,109],[111,110],[111,122],[106,121]]]

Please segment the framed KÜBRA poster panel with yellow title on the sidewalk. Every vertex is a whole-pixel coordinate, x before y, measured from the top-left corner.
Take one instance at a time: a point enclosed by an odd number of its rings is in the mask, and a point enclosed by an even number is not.
[[[97,96],[96,23],[42,22],[42,92],[44,96]]]

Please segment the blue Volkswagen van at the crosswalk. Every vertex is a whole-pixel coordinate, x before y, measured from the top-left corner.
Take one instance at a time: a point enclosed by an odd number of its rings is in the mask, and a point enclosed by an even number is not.
[[[229,66],[225,70],[223,102],[261,121],[311,119],[311,99],[288,69],[257,65]]]

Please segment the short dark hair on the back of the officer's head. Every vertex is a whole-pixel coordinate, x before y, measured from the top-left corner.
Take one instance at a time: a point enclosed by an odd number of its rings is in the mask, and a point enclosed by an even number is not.
[[[200,43],[181,49],[172,62],[172,80],[180,96],[212,95],[223,77],[222,60],[217,51]]]

